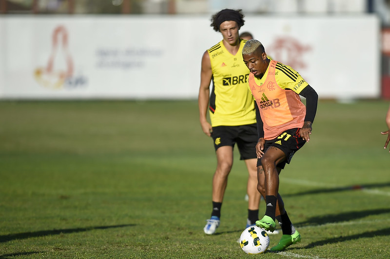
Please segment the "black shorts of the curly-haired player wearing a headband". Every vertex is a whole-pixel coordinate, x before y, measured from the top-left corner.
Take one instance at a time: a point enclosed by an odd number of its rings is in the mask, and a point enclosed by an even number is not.
[[[257,125],[213,127],[211,137],[214,140],[215,151],[222,146],[232,146],[237,143],[240,160],[256,158]]]

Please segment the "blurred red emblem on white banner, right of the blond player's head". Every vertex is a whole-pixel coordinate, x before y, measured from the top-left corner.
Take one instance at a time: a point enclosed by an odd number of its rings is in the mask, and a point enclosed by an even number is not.
[[[279,37],[275,39],[271,46],[267,52],[274,60],[280,61],[295,70],[307,67],[302,55],[312,49],[309,45],[303,45],[292,37]]]

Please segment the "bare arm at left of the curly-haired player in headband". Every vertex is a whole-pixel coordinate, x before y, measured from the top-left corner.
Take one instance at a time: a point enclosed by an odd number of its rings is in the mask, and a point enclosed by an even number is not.
[[[210,99],[210,82],[213,76],[211,69],[211,62],[209,53],[206,51],[202,56],[202,65],[200,70],[200,86],[198,95],[198,106],[199,106],[199,121],[203,132],[211,137],[212,126],[207,121],[207,109],[209,106]]]

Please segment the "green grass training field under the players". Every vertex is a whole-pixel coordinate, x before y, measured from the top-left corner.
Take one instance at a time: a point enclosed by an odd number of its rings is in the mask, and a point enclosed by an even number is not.
[[[389,259],[388,107],[320,101],[280,176],[302,241],[247,255],[237,150],[221,225],[203,233],[215,152],[196,101],[0,102],[0,258]]]

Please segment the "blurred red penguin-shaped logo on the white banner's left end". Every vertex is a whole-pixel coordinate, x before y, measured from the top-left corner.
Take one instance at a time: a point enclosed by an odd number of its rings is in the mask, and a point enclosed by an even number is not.
[[[72,77],[73,61],[68,52],[68,32],[64,26],[54,29],[47,65],[36,69],[34,75],[40,85],[49,88],[60,88],[67,78]]]

